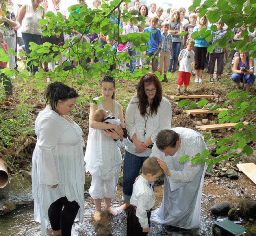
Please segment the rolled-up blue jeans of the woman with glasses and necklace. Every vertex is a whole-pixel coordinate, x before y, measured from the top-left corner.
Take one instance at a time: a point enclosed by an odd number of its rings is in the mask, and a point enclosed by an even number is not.
[[[124,152],[124,169],[123,169],[123,197],[122,200],[124,203],[129,203],[132,196],[132,185],[136,177],[138,177],[140,168],[144,161],[148,157],[138,157],[129,153],[128,151]]]

